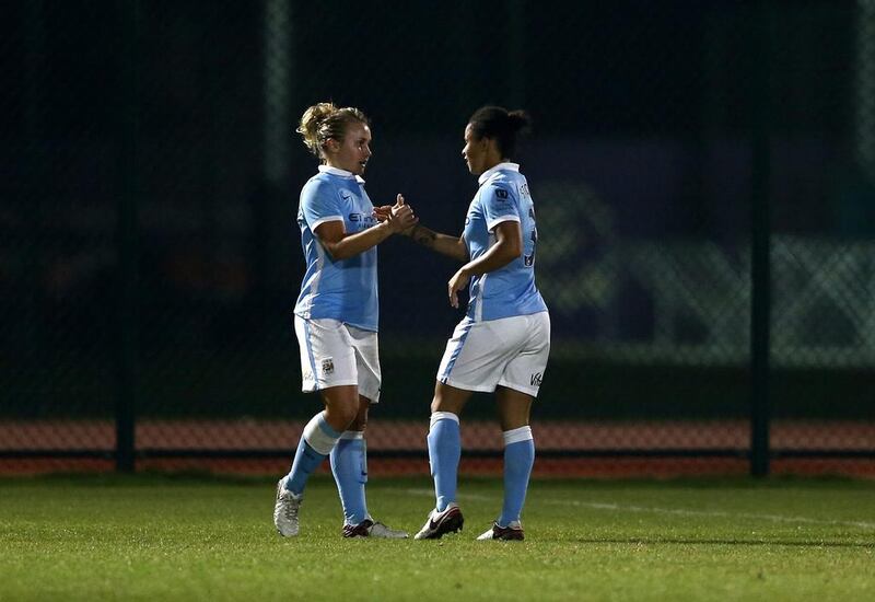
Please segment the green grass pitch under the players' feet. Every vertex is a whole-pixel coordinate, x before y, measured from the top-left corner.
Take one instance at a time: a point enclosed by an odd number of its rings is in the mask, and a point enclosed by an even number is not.
[[[525,542],[476,542],[499,479],[463,479],[465,530],[343,540],[314,477],[302,533],[272,481],[0,479],[0,600],[875,600],[875,483],[535,481]],[[380,520],[415,532],[427,479],[372,478]]]

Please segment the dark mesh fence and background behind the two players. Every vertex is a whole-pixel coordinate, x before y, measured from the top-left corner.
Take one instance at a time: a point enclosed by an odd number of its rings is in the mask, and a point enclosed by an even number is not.
[[[5,468],[288,461],[318,405],[293,128],[334,100],[372,118],[375,202],[452,233],[467,117],[533,115],[540,466],[875,472],[871,2],[34,0],[0,32]],[[369,449],[424,466],[454,265],[380,262]],[[492,414],[466,410],[474,458]]]

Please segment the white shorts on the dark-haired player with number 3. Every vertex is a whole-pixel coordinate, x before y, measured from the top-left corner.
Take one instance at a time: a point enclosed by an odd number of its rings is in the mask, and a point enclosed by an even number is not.
[[[550,314],[458,323],[438,369],[438,380],[465,391],[497,385],[538,396],[550,355]]]

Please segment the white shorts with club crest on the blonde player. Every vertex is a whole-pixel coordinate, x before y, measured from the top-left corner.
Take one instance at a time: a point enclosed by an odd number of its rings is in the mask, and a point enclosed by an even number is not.
[[[301,348],[304,392],[354,384],[359,395],[380,402],[380,349],[376,333],[337,320],[294,316]]]

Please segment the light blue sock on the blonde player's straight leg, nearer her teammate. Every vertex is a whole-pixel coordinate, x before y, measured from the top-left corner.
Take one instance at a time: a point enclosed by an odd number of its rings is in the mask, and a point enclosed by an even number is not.
[[[368,518],[364,484],[368,483],[368,449],[364,433],[348,430],[331,450],[331,472],[343,505],[347,524],[359,524]]]

